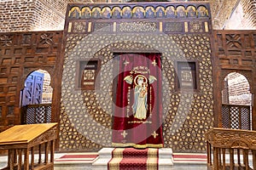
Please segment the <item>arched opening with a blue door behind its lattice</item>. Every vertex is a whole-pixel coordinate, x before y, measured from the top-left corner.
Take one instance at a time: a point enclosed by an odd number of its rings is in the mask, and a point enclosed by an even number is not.
[[[21,123],[51,122],[52,93],[49,73],[32,71],[20,91]]]

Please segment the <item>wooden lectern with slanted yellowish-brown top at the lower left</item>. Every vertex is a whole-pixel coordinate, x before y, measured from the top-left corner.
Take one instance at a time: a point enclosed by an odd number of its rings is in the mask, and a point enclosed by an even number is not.
[[[16,125],[3,131],[0,150],[8,150],[3,170],[54,169],[55,139],[57,123]]]

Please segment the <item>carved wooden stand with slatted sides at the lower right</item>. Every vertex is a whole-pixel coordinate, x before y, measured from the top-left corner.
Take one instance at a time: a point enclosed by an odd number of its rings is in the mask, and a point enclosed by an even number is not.
[[[256,169],[256,131],[213,128],[206,139],[208,169]]]

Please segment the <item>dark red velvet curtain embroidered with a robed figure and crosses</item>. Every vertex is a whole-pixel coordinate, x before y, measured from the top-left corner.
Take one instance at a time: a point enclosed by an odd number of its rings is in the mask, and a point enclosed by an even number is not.
[[[113,146],[163,147],[160,54],[119,54]]]

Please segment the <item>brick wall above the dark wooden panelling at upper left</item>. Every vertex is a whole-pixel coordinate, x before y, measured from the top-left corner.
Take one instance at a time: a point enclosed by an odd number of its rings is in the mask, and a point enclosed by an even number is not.
[[[67,0],[5,0],[0,2],[0,31],[63,30]]]

